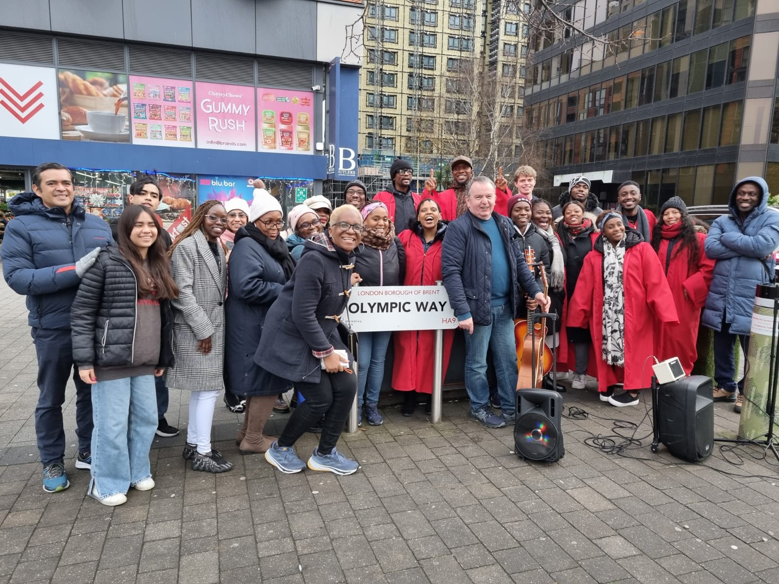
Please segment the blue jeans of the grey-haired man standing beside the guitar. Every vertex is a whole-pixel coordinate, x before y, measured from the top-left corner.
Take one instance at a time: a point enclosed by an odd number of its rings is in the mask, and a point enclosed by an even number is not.
[[[508,304],[492,307],[489,325],[474,325],[471,335],[465,332],[465,389],[473,412],[488,406],[487,347],[492,349],[501,410],[513,416],[516,414],[516,344],[514,319]]]

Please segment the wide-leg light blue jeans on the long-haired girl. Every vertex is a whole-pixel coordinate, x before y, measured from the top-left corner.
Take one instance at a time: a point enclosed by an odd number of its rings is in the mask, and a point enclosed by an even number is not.
[[[149,450],[157,430],[153,375],[97,382],[92,411],[92,482],[100,497],[125,494],[151,477]]]

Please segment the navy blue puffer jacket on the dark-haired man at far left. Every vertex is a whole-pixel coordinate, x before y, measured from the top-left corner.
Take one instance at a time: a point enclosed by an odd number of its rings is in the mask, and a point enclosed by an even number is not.
[[[66,215],[61,207],[44,206],[33,192],[16,195],[9,209],[16,217],[3,238],[5,282],[16,294],[26,294],[30,326],[70,329],[70,307],[81,282],[76,262],[113,241],[108,224],[75,199]]]

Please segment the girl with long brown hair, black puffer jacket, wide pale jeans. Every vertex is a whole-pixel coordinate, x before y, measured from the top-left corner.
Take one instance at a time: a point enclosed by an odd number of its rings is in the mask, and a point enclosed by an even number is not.
[[[73,359],[93,384],[89,492],[103,505],[122,505],[130,487],[154,487],[154,377],[173,364],[168,302],[178,297],[153,212],[130,205],[117,230],[118,243],[97,255],[71,310]]]

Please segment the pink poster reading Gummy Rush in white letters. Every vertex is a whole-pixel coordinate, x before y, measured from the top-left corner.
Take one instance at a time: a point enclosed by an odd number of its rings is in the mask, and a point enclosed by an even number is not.
[[[255,152],[254,87],[198,82],[195,90],[197,147]]]

